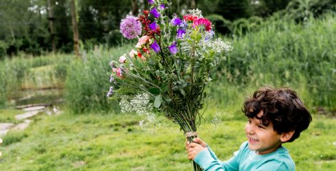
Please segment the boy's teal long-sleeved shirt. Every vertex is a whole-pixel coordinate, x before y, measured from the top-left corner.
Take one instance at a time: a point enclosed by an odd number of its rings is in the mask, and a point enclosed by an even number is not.
[[[233,153],[228,161],[220,161],[215,153],[207,146],[194,159],[201,168],[206,171],[213,170],[255,170],[255,171],[294,171],[295,163],[288,150],[281,146],[272,153],[258,155],[248,148],[248,142],[244,142],[240,149]]]

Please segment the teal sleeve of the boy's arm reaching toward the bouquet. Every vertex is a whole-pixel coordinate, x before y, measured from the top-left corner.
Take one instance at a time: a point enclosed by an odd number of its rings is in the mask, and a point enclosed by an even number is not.
[[[241,150],[238,150],[233,153],[233,157],[228,161],[222,162],[216,157],[211,148],[207,146],[207,148],[201,150],[201,152],[196,155],[194,161],[205,171],[239,170],[240,151]]]

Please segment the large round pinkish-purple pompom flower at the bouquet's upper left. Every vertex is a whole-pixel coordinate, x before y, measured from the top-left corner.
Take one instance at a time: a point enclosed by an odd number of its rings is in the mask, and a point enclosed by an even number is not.
[[[141,23],[136,16],[127,16],[121,20],[120,32],[127,39],[136,38],[141,34]]]

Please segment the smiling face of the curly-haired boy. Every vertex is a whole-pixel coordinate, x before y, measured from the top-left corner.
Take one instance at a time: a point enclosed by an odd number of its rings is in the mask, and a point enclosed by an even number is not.
[[[263,116],[263,111],[259,111],[257,116]],[[255,150],[259,155],[272,153],[281,146],[281,134],[274,131],[272,122],[266,127],[261,120],[248,118],[245,132],[248,138],[248,148]]]

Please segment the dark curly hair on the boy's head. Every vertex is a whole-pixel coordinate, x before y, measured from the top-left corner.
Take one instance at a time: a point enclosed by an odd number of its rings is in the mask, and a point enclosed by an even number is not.
[[[261,110],[263,116],[258,117]],[[260,88],[252,98],[246,99],[242,111],[245,116],[257,118],[266,126],[272,122],[274,131],[279,134],[294,131],[294,135],[287,142],[298,138],[312,120],[305,105],[290,88]]]

